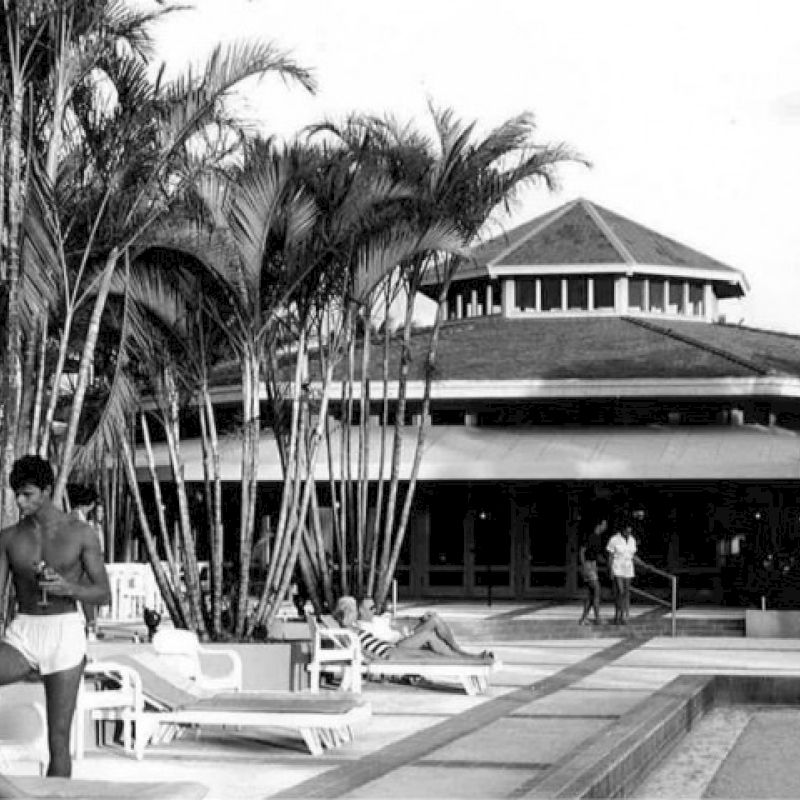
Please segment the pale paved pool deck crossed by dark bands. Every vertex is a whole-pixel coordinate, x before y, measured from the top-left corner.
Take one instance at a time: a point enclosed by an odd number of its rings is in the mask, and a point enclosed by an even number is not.
[[[525,605],[439,604],[437,610],[464,630],[469,619],[524,613]],[[366,683],[371,720],[352,742],[319,757],[308,755],[299,739],[276,731],[203,731],[150,746],[141,762],[114,746],[89,749],[75,762],[73,774],[199,781],[208,787],[209,799],[558,796],[548,792],[576,758],[604,740],[607,744],[609,736],[630,734],[631,722],[641,722],[658,703],[668,702],[667,687],[681,675],[800,677],[798,639],[571,638],[578,610],[577,604],[565,604],[541,612],[550,620],[563,619],[562,639],[465,641],[468,647],[493,650],[502,661],[487,695],[469,697],[455,687],[425,684]],[[679,613],[731,612],[687,608]],[[32,774],[33,765],[15,766],[16,774]]]

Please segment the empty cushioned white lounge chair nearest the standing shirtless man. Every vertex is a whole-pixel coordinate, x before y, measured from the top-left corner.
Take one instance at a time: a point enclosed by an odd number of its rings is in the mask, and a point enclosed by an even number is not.
[[[186,726],[292,730],[312,755],[320,755],[324,748],[351,741],[354,727],[371,714],[367,702],[345,692],[209,691],[170,674],[154,653],[113,656],[109,663],[117,672],[127,667],[140,682],[144,708],[128,711],[136,724],[134,752],[139,758],[149,741],[169,741]],[[115,709],[95,712],[96,720],[118,718]]]

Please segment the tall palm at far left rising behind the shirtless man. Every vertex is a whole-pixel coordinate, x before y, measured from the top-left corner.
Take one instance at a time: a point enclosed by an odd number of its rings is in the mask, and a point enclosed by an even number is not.
[[[171,9],[172,5],[167,4],[158,13]],[[49,116],[44,122],[38,118],[26,120],[28,127],[37,134],[31,139],[41,140],[39,150],[29,152],[24,162],[27,183],[32,187],[30,198],[36,202],[29,201],[21,208],[19,192],[9,189],[14,206],[11,217],[16,222],[12,223],[8,237],[10,258],[3,261],[4,276],[6,273],[9,276],[3,469],[7,469],[15,454],[19,427],[16,419],[20,406],[22,339],[16,320],[22,302],[20,287],[24,288],[20,275],[36,283],[33,280],[35,270],[40,268],[49,282],[57,286],[61,298],[58,303],[50,298],[44,309],[46,313],[51,311],[57,315],[62,324],[58,326],[55,364],[42,362],[50,379],[46,381],[50,390],[46,411],[43,415],[36,414],[36,419],[43,416],[42,430],[41,433],[31,431],[31,440],[38,444],[42,453],[48,454],[51,450],[53,422],[58,404],[64,399],[59,387],[65,365],[73,357],[75,343],[83,343],[74,390],[69,398],[66,435],[60,447],[55,491],[58,499],[75,455],[84,399],[90,388],[95,344],[111,281],[131,248],[167,213],[181,196],[183,187],[194,178],[195,165],[187,158],[191,137],[205,133],[212,123],[227,125],[228,117],[221,114],[221,103],[231,89],[248,77],[276,72],[309,89],[313,88],[313,81],[306,70],[274,46],[239,44],[217,48],[200,72],[190,70],[169,84],[164,84],[160,78],[152,83],[140,57],[142,48],[120,51],[108,46],[109,30],[123,31],[137,45],[145,41],[144,30],[137,27],[136,22],[147,19],[125,12],[121,3],[111,0],[91,4],[7,2],[4,10],[4,21],[10,31],[7,50],[15,56],[8,62],[12,64],[9,74],[13,80],[7,82],[13,90],[11,97],[15,98],[15,107],[20,107],[18,93],[32,92],[34,84],[33,78],[24,71],[34,59],[25,61],[22,44],[31,38],[36,40],[39,32],[51,23],[55,30],[53,35],[63,44],[58,49],[63,58],[44,70],[47,85],[56,87],[55,94],[36,109],[40,115],[44,109]],[[33,11],[41,12],[38,18]],[[95,35],[89,35],[89,31]],[[85,49],[81,50],[78,43]],[[101,46],[103,43],[105,46]],[[33,45],[29,51],[38,52]],[[36,65],[40,71],[44,69],[41,60]],[[115,93],[98,87],[98,67],[102,68],[108,83],[115,87]],[[51,75],[55,76],[52,80]],[[23,162],[18,143],[22,123],[19,114],[5,116],[4,129],[9,129],[10,120],[14,131],[11,143],[4,150],[16,165],[11,170],[10,186],[20,187],[22,179],[18,173]],[[20,220],[25,221],[24,228]],[[26,232],[27,250],[16,246],[21,238],[18,228]],[[30,253],[22,264],[22,271],[20,251]],[[75,329],[79,319],[84,320],[84,326]],[[30,351],[36,351],[31,345],[40,335],[41,330],[29,333]],[[32,405],[38,409],[39,401]]]

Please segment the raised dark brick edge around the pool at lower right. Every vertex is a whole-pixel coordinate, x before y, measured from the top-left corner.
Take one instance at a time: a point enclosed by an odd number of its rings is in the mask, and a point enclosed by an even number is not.
[[[525,797],[626,797],[709,710],[747,704],[800,705],[800,677],[679,675],[550,767]]]

